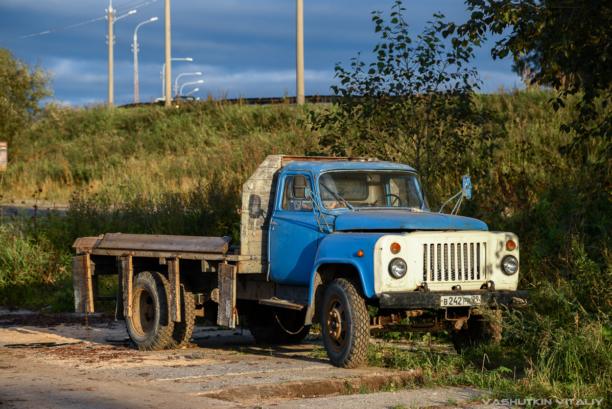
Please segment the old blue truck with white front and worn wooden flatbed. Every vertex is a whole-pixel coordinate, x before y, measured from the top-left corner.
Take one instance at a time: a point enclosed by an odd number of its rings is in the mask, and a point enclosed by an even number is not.
[[[471,195],[469,178],[459,195]],[[330,361],[351,368],[373,333],[449,331],[462,350],[501,337],[502,307],[528,304],[517,290],[517,236],[432,211],[407,165],[271,155],[244,183],[239,212],[237,246],[229,237],[76,239],[76,311],[116,299],[140,350],[187,345],[198,316],[232,328],[245,316],[267,343],[299,342],[320,323]],[[116,296],[99,295],[105,275],[118,277]]]

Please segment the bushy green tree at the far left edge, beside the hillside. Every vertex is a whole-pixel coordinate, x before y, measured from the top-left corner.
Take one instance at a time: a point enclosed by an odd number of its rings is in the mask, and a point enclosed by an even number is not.
[[[53,96],[52,74],[15,58],[7,48],[0,48],[0,139],[12,142],[23,127],[42,111],[40,101]]]

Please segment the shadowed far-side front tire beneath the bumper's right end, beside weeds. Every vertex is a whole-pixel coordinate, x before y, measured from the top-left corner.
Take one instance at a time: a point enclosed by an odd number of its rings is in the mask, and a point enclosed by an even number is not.
[[[452,331],[450,338],[455,350],[461,352],[483,343],[499,343],[502,332],[501,310],[495,310],[493,314],[496,321],[487,320],[483,315],[472,315],[468,319],[468,328]]]

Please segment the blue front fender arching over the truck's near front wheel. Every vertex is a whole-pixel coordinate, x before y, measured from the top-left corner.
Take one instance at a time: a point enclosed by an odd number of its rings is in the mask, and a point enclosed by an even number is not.
[[[385,233],[332,233],[321,239],[310,274],[308,306],[312,307],[314,303],[316,272],[326,264],[346,264],[356,268],[364,295],[367,298],[375,297],[374,247],[376,241],[384,235]],[[359,250],[364,250],[364,257],[357,256]]]

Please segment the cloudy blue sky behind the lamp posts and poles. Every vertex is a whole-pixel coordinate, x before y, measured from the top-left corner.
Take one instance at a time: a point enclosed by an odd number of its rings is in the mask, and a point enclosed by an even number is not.
[[[280,97],[296,95],[296,2],[293,0],[171,0],[171,54],[193,58],[173,61],[172,80],[182,75],[184,94],[206,97]],[[379,41],[371,12],[388,16],[392,0],[304,0],[305,94],[329,95],[337,83],[334,65],[348,67],[361,52],[372,58]],[[441,12],[449,21],[466,21],[469,12],[461,0],[405,0],[406,20],[416,36]],[[114,28],[114,103],[134,102],[132,42],[138,23],[159,17],[138,29],[140,102],[162,96],[160,71],[165,61],[164,1],[113,0],[119,19]],[[0,47],[18,58],[40,64],[54,73],[55,99],[70,106],[95,105],[108,100],[108,21],[103,17],[109,0],[0,0]],[[75,28],[61,29],[102,17]],[[490,39],[472,61],[483,80],[483,91],[517,86],[509,60],[493,61]]]

